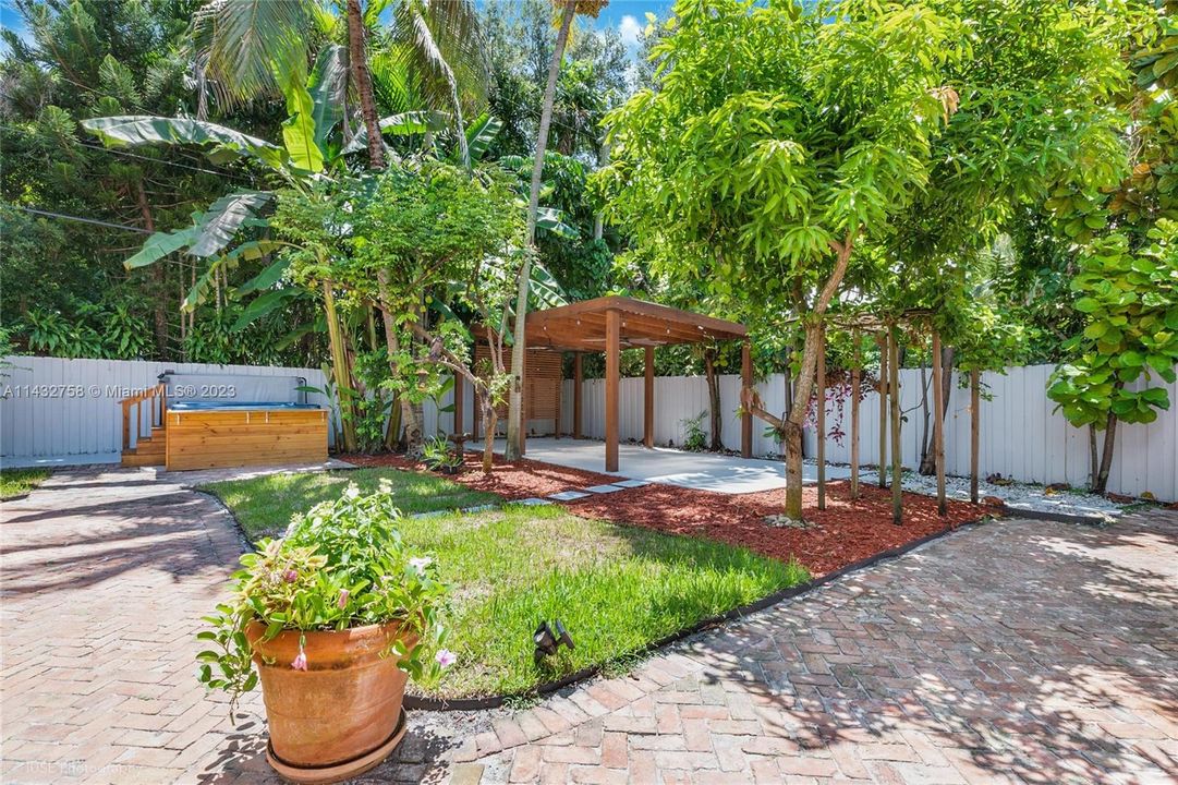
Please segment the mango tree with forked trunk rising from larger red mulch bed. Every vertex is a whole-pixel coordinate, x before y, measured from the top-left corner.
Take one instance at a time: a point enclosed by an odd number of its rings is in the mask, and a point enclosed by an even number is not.
[[[993,219],[1035,178],[1105,150],[1110,121],[1092,123],[1091,111],[1067,144],[1051,136],[1052,124],[1071,130],[1073,105],[1090,107],[1106,71],[1117,73],[1107,32],[1092,24],[1099,14],[1070,6],[680,2],[653,51],[656,90],[607,118],[614,164],[600,183],[613,218],[637,243],[669,249],[656,257],[668,272],[743,303],[750,323],[801,325],[789,414],[744,400],[786,446],[787,515],[801,515],[802,423],[823,318],[848,285],[858,299],[876,295],[899,240],[919,239],[913,222],[941,206],[926,194],[951,192],[949,211]],[[1043,95],[1020,71],[1035,46],[1068,53],[1051,60],[1065,71]],[[1010,50],[1018,57],[994,67]],[[1081,71],[1092,64],[1104,70]],[[1090,78],[1094,87],[1077,87]]]

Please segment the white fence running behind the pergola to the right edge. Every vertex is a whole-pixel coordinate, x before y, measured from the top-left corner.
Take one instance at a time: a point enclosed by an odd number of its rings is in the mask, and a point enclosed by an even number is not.
[[[980,464],[985,477],[994,473],[1028,482],[1087,483],[1087,429],[1072,428],[1047,397],[1047,377],[1052,365],[1010,368],[1002,374],[982,374]],[[931,376],[931,371],[927,374]],[[969,391],[959,387],[954,374],[945,418],[945,464],[954,475],[969,473]],[[602,380],[583,382],[582,430],[591,438],[604,438],[605,387]],[[770,376],[756,385],[765,408],[785,410],[785,377]],[[906,420],[901,431],[904,464],[915,468],[920,462],[924,417],[920,410],[920,370],[900,371],[900,402]],[[1147,426],[1119,423],[1117,450],[1113,456],[1108,490],[1139,495],[1150,492],[1160,500],[1178,499],[1178,384],[1170,384],[1169,411]],[[620,389],[620,438],[642,438],[643,380],[623,378]],[[720,407],[723,415],[721,435],[729,449],[740,449],[740,377],[721,376]],[[932,391],[929,388],[929,407]],[[851,405],[840,414],[832,403],[827,409],[827,433],[841,430],[840,441],[827,438],[826,455],[832,462],[851,460]],[[573,430],[573,382],[564,382],[562,430]],[[683,420],[703,414],[708,430],[708,388],[703,377],[657,377],[655,380],[655,442],[682,444],[687,436]],[[874,391],[860,403],[859,461],[874,464],[879,456],[879,398]],[[932,413],[929,413],[929,423]],[[775,455],[780,446],[765,434],[765,423],[753,420],[753,454]],[[1103,436],[1103,435],[1101,435]],[[814,434],[807,430],[806,454],[814,454]]]

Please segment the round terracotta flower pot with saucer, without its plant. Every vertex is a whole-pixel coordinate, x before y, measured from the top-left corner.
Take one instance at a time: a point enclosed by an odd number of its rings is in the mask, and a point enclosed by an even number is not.
[[[306,669],[291,662],[299,653],[297,631],[263,641],[265,626],[251,622],[246,638],[262,680],[270,724],[267,759],[287,779],[337,781],[379,764],[404,734],[402,700],[408,674],[388,654],[401,622],[338,632],[309,632]]]

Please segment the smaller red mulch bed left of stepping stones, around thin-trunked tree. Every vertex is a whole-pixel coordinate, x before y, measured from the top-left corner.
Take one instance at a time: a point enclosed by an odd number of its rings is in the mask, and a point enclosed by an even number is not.
[[[363,467],[388,466],[397,469],[425,470],[417,461],[410,461],[401,455],[340,455],[339,459]],[[603,486],[615,482],[617,477],[540,461],[523,460],[507,463],[499,455],[495,456],[492,473],[488,477],[483,474],[483,456],[468,453],[462,473],[446,480],[515,501],[532,496],[550,496],[562,490],[576,490],[589,486]]]

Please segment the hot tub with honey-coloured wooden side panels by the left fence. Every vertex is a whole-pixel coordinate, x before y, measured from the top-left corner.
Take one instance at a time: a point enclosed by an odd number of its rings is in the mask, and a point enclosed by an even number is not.
[[[327,460],[327,410],[307,403],[168,401],[164,428],[170,471]]]

